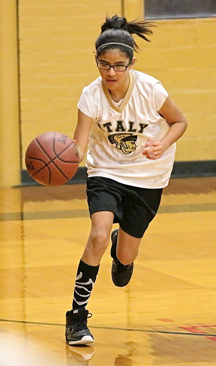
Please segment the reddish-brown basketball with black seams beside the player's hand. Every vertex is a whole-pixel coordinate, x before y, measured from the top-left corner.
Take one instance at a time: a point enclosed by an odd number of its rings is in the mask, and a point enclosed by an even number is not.
[[[36,182],[44,186],[60,186],[75,175],[79,152],[68,136],[60,132],[45,132],[30,142],[25,163]]]

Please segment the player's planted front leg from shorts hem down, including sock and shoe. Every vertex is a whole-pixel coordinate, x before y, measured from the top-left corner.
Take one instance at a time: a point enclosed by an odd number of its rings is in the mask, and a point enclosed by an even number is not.
[[[95,212],[91,215],[91,232],[77,269],[72,310],[66,313],[65,337],[71,345],[94,342],[87,328],[89,313],[86,306],[98,274],[101,257],[109,243],[113,217],[114,214],[109,211]]]

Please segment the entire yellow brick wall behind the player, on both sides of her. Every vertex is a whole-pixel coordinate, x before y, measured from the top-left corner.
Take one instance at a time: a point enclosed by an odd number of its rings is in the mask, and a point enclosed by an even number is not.
[[[98,77],[94,42],[105,15],[116,13],[117,0],[19,1],[23,169],[36,135],[54,130],[73,136],[80,93]],[[129,13],[134,19],[136,12]],[[160,79],[189,121],[178,142],[179,161],[215,158],[214,20],[157,21],[151,44],[139,40],[137,70]]]

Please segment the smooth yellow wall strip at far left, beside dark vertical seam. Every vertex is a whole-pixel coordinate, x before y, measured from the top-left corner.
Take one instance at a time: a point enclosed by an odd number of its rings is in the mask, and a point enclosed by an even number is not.
[[[0,0],[0,185],[20,183],[16,1]]]

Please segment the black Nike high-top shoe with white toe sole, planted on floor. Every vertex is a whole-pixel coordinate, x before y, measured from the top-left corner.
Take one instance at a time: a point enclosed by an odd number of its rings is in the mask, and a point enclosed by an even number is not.
[[[70,345],[94,342],[94,338],[87,327],[87,318],[91,318],[91,316],[92,314],[85,308],[67,311],[65,338]]]

